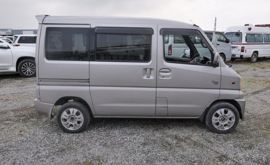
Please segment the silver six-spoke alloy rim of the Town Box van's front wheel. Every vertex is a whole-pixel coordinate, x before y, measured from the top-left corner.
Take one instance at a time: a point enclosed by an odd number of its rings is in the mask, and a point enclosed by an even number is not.
[[[227,108],[217,110],[212,116],[212,124],[218,130],[227,130],[234,122],[235,114]]]

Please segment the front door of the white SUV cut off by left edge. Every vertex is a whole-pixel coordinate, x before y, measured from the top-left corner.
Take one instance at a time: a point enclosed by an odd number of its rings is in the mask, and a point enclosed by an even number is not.
[[[0,41],[0,45],[6,43]],[[7,69],[12,67],[13,57],[10,47],[9,48],[0,48],[0,69]]]

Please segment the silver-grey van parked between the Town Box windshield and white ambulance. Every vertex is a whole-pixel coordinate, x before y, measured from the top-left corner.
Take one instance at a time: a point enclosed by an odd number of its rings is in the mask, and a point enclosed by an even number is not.
[[[209,40],[212,42],[223,61],[231,60],[231,43],[230,39],[220,31],[204,31]],[[213,39],[214,38],[214,39]]]

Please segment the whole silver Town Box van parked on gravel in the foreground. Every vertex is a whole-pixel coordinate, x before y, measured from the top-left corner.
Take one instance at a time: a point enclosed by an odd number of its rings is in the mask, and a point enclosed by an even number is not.
[[[39,114],[56,116],[68,133],[90,118],[193,118],[216,133],[244,120],[241,77],[201,28],[146,18],[37,15]],[[166,37],[181,38],[190,56],[166,56]],[[193,38],[200,39],[200,41]],[[204,45],[201,55],[194,44]]]

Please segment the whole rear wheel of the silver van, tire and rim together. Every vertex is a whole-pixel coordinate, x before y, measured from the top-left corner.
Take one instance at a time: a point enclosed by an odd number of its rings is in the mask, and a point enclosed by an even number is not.
[[[57,124],[67,133],[83,132],[89,125],[90,113],[85,105],[77,101],[67,102],[57,112]]]

